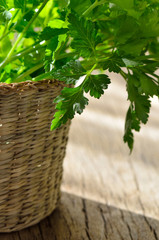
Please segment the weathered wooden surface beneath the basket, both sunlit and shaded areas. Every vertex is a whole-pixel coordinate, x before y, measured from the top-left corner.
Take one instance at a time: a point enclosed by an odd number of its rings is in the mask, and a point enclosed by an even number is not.
[[[129,155],[125,86],[115,75],[112,82],[73,121],[58,209],[0,240],[159,240],[159,104]]]

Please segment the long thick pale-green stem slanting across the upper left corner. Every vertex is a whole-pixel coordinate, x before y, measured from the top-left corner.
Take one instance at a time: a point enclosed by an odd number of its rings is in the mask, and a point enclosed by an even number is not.
[[[34,22],[34,20],[37,18],[37,16],[39,15],[39,13],[43,10],[43,8],[45,7],[46,3],[48,2],[48,0],[44,0],[43,4],[41,5],[41,7],[39,8],[39,10],[36,12],[36,14],[31,18],[31,20],[29,21],[28,25],[24,28],[24,30],[19,34],[16,42],[14,43],[13,47],[11,48],[10,52],[8,53],[6,59],[0,64],[0,70],[6,65],[5,63],[8,62],[8,59],[10,59],[10,57],[13,55],[14,50],[16,49],[17,45],[19,44],[19,42],[22,40],[22,38],[24,37],[25,33],[28,31],[29,27],[32,25],[32,23]]]

